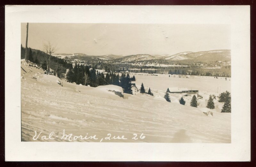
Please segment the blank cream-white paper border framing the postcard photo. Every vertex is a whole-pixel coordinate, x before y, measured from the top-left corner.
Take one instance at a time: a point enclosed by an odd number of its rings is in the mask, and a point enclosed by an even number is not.
[[[231,143],[21,142],[20,23],[229,24]],[[6,161],[250,161],[250,6],[5,6]]]

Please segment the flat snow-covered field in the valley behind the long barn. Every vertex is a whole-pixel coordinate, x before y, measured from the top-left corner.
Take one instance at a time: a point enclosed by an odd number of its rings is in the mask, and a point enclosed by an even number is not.
[[[119,74],[120,75],[120,74]],[[168,87],[179,87],[179,88],[188,88],[206,92],[212,92],[213,94],[220,94],[224,91],[231,92],[231,78],[218,77],[214,76],[186,76],[186,75],[170,75],[169,74],[151,74],[146,73],[130,73],[131,77],[134,75],[136,78],[135,84],[140,87],[141,83],[144,84],[144,87],[150,87],[156,90],[166,91]],[[188,78],[186,78],[188,77]]]

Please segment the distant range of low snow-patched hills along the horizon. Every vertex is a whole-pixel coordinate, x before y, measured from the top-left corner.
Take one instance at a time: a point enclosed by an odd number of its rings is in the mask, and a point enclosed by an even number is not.
[[[178,54],[136,54],[136,55],[115,55],[107,54],[101,56],[87,55],[83,53],[75,54],[55,54],[56,57],[61,57],[69,60],[84,60],[84,61],[114,61],[114,62],[140,62],[149,60],[164,60],[164,61],[230,61],[231,50],[211,50],[200,52],[181,52]]]

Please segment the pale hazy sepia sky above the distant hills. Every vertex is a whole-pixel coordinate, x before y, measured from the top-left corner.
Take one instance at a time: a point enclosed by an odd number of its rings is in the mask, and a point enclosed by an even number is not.
[[[21,44],[26,44],[21,23]],[[87,55],[176,54],[230,49],[230,26],[216,24],[88,24],[29,23],[28,47],[43,50],[48,41],[55,53]]]

